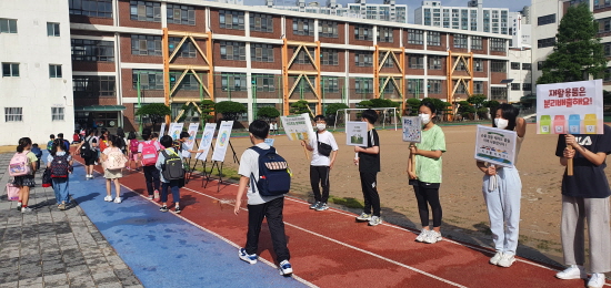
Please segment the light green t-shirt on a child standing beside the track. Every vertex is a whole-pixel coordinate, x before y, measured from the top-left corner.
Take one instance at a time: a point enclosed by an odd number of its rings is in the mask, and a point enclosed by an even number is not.
[[[422,142],[417,143],[419,150],[445,152],[445,135],[440,126],[434,125],[428,131],[422,131]],[[442,157],[438,160],[415,156],[415,175],[420,182],[441,183]]]

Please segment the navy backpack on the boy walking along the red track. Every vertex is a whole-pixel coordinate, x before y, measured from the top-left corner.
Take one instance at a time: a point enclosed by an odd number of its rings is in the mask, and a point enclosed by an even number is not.
[[[258,146],[250,147],[259,153],[259,179],[250,174],[251,187],[257,185],[261,196],[278,196],[289,193],[291,189],[291,174],[287,161],[276,153],[274,147],[262,150]]]

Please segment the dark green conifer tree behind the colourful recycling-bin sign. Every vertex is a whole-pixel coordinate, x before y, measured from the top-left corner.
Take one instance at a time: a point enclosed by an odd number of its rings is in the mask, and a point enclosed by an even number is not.
[[[562,17],[553,52],[543,62],[543,74],[537,84],[582,81],[587,75],[604,75],[607,59],[600,38],[599,22],[587,2],[569,7]]]

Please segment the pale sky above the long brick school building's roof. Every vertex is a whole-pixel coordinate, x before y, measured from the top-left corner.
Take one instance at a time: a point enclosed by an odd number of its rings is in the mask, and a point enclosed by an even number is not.
[[[243,0],[247,6],[264,6],[266,0]],[[279,0],[286,3],[296,2],[293,0]],[[306,0],[307,3],[317,1],[320,4],[325,4],[327,0]],[[408,16],[408,22],[413,23],[413,10],[422,4],[422,1],[418,0],[395,0],[397,4],[407,4],[410,10]],[[467,7],[469,0],[441,0],[441,6],[447,7]],[[353,3],[352,0],[338,0],[339,3],[345,7],[347,3]],[[368,3],[383,3],[383,0],[367,0]],[[483,0],[484,8],[509,8],[509,11],[515,12],[522,10],[524,6],[530,6],[530,0]]]

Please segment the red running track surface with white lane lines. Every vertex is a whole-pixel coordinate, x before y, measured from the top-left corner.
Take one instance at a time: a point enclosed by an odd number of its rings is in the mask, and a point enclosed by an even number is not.
[[[143,174],[123,175],[123,186],[139,194],[146,191]],[[248,213],[233,214],[238,186],[221,184],[217,192],[217,184],[210,182],[203,188],[198,177],[181,188],[180,217],[243,246]],[[490,249],[447,239],[433,245],[415,243],[414,232],[390,224],[370,227],[355,223],[355,216],[333,208],[314,212],[308,203],[286,197],[284,223],[294,275],[320,287],[585,286],[581,279],[559,280],[554,268],[523,258],[510,268],[497,267],[488,264],[493,254]],[[260,257],[274,263],[267,225],[259,246]]]

